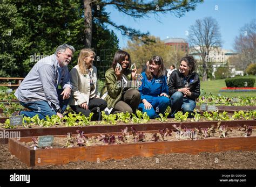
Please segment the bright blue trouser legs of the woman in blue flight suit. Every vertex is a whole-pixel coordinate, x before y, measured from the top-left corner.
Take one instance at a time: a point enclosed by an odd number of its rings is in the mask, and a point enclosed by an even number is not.
[[[161,113],[164,114],[165,110],[167,109],[169,105],[169,98],[165,96],[147,96],[149,98],[146,98],[147,102],[149,102],[153,107],[150,110],[145,109],[144,103],[140,103],[138,109],[142,111],[143,113],[146,112],[147,116],[150,117],[150,119],[154,119],[157,117],[157,114]]]

